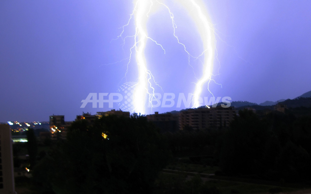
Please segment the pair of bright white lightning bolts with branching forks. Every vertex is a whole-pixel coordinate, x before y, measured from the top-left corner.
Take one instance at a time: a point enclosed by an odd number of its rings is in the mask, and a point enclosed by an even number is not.
[[[152,100],[155,98],[155,88],[152,86],[154,84],[158,85],[155,81],[154,76],[152,75],[151,71],[147,69],[147,63],[146,63],[146,56],[145,56],[145,49],[146,49],[146,42],[147,40],[151,40],[154,44],[161,47],[161,49],[164,51],[165,49],[161,44],[159,44],[156,40],[152,39],[150,36],[148,36],[148,30],[147,30],[147,21],[149,14],[152,11],[152,7],[156,4],[158,6],[163,6],[170,15],[170,21],[172,22],[173,27],[173,35],[176,38],[177,42],[183,46],[184,51],[188,54],[189,57],[189,65],[190,65],[190,57],[194,59],[198,59],[199,57],[204,57],[204,60],[202,61],[203,69],[202,69],[202,76],[201,78],[197,78],[197,82],[195,83],[195,88],[193,92],[193,108],[196,108],[200,106],[199,98],[203,90],[207,90],[211,93],[209,90],[209,83],[212,76],[212,69],[213,69],[213,60],[214,60],[214,53],[215,53],[215,35],[214,35],[214,29],[211,24],[211,21],[208,17],[207,11],[205,9],[205,5],[202,2],[202,0],[180,0],[177,1],[180,5],[182,5],[185,10],[187,10],[187,13],[193,22],[195,23],[197,27],[197,31],[200,35],[203,50],[202,53],[199,56],[193,56],[190,54],[186,48],[186,45],[181,43],[179,41],[178,36],[175,34],[175,28],[177,28],[177,25],[174,21],[174,14],[170,11],[169,6],[167,6],[164,1],[160,0],[135,0],[134,1],[134,9],[132,14],[130,15],[130,18],[128,20],[128,23],[123,26],[123,31],[120,35],[118,35],[118,38],[122,38],[123,42],[125,42],[125,38],[133,37],[134,38],[134,44],[130,48],[130,56],[128,60],[128,65],[131,62],[132,54],[135,53],[136,62],[137,62],[137,68],[138,68],[138,82],[135,85],[135,91],[134,91],[134,110],[135,112],[140,112],[142,114],[145,114],[145,104],[146,104],[146,97],[148,95],[149,103],[152,105]],[[135,34],[132,36],[126,36],[122,37],[124,33],[124,27],[128,26],[130,24],[130,21],[134,17],[135,20]],[[125,74],[126,75],[126,74]],[[207,88],[203,89],[204,84],[207,83]],[[212,94],[213,95],[213,94]]]

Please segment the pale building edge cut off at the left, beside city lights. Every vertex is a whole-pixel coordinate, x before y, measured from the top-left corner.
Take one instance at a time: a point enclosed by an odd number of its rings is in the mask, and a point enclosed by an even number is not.
[[[12,155],[10,126],[0,124],[0,193],[3,194],[15,193]]]

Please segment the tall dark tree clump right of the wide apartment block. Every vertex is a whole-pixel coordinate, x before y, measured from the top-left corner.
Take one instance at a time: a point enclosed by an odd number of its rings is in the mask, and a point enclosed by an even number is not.
[[[285,181],[310,179],[311,117],[271,112],[259,118],[239,111],[220,154],[225,173]]]

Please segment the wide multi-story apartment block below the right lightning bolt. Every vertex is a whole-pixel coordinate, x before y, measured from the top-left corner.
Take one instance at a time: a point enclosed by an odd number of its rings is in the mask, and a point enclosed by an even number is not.
[[[191,127],[193,130],[228,127],[234,119],[234,107],[199,107],[181,111],[179,116],[179,129]]]

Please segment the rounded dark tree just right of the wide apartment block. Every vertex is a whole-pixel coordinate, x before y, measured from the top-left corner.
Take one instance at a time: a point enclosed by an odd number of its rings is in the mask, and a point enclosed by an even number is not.
[[[267,126],[253,111],[240,110],[224,136],[220,157],[223,170],[229,174],[261,172],[268,137]]]

